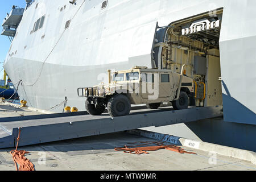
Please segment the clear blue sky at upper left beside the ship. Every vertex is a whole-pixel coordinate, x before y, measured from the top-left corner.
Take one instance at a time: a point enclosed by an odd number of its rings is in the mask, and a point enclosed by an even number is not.
[[[0,32],[2,32],[2,22],[3,19],[6,17],[6,13],[10,13],[13,5],[19,6],[20,8],[24,8],[26,6],[25,0],[7,0],[7,1],[0,1],[0,23],[1,28]],[[5,60],[5,56],[7,51],[10,48],[10,40],[7,36],[0,35],[0,71],[3,68],[3,61]],[[0,72],[0,79],[3,78],[3,71]]]

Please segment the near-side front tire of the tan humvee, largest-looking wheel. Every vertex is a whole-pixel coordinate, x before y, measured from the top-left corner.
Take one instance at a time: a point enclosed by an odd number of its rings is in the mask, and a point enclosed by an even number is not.
[[[119,117],[130,114],[131,102],[123,94],[114,95],[108,102],[108,113],[112,117]]]

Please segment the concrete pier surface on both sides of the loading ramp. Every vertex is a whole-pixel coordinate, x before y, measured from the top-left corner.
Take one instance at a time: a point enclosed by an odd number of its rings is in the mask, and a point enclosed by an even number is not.
[[[0,120],[20,115],[39,115],[36,111],[0,105]],[[22,117],[22,116],[20,116]],[[256,165],[246,160],[214,155],[207,151],[181,146],[196,155],[179,154],[168,150],[150,151],[150,154],[131,155],[115,151],[128,143],[156,141],[127,132],[118,132],[58,142],[18,147],[30,154],[38,171],[256,171]],[[167,145],[170,143],[166,143]],[[14,148],[0,150],[0,171],[14,171],[11,154]]]

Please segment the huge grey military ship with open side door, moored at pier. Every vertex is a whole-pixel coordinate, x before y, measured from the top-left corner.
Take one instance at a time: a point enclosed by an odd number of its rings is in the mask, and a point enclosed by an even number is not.
[[[29,106],[49,110],[67,97],[85,110],[77,88],[106,82],[108,69],[179,72],[186,64],[193,106],[223,105],[224,118],[147,130],[256,151],[255,7],[253,0],[27,0],[3,21],[2,35],[13,40],[4,68]]]

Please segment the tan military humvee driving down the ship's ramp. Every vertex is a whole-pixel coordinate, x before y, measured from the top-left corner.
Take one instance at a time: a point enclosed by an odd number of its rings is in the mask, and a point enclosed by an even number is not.
[[[108,84],[77,90],[80,97],[87,98],[85,108],[89,114],[100,115],[107,107],[109,114],[117,117],[128,115],[131,104],[158,109],[163,102],[172,102],[176,110],[187,109],[189,97],[193,97],[193,79],[167,69],[134,67],[108,73]]]

